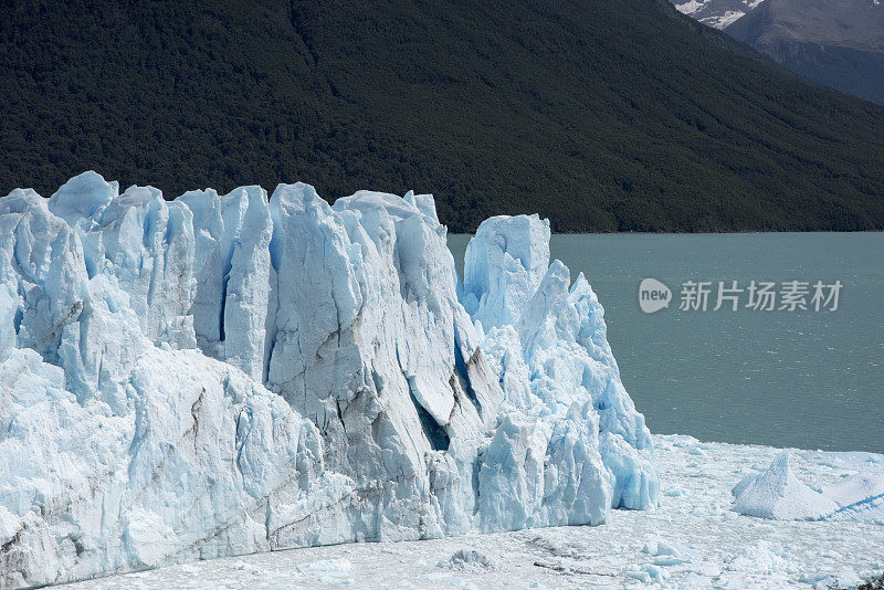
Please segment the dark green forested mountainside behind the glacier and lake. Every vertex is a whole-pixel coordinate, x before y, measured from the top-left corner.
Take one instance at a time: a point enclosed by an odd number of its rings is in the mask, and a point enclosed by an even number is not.
[[[0,193],[436,196],[451,231],[884,229],[884,108],[663,0],[0,0]]]

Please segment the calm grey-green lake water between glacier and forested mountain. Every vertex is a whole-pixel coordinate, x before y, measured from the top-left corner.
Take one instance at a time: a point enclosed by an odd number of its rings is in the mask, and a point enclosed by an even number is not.
[[[461,275],[469,240],[449,236]],[[550,253],[598,294],[652,432],[884,452],[884,233],[571,234],[554,235]],[[649,277],[672,289],[654,314],[639,307]],[[707,310],[680,309],[688,281],[713,283]],[[776,282],[778,295],[808,282],[808,309],[746,308],[744,291],[736,312],[713,310],[718,281]],[[841,282],[836,310],[813,310],[817,281]]]

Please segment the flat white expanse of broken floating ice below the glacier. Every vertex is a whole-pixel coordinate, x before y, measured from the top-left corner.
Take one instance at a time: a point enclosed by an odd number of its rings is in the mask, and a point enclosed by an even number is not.
[[[663,499],[597,527],[352,544],[217,559],[91,580],[129,588],[827,588],[884,570],[884,515],[765,520],[733,512],[732,487],[779,450],[655,435]],[[792,451],[813,488],[884,472],[884,455]],[[880,510],[881,507],[877,507]]]

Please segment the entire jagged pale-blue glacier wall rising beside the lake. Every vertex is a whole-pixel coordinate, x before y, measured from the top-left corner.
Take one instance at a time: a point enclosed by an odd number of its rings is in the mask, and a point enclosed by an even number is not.
[[[549,224],[430,196],[0,199],[0,588],[657,503],[603,312]]]

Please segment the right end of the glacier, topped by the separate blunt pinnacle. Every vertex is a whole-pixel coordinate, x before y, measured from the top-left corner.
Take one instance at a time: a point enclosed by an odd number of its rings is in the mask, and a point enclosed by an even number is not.
[[[644,417],[620,381],[596,294],[582,274],[571,283],[549,263],[548,239],[537,215],[483,222],[466,250],[464,307],[485,330],[503,408],[530,417],[547,449],[545,485],[567,498],[583,485],[569,477],[596,474],[610,477],[614,507],[648,508],[660,484]]]

